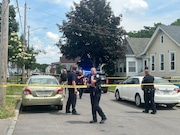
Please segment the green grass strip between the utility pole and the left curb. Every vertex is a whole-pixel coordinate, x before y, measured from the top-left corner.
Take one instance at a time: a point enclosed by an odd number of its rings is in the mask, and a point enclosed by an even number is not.
[[[21,98],[22,86],[9,86],[6,88],[6,105],[0,108],[0,119],[14,117],[18,101]]]

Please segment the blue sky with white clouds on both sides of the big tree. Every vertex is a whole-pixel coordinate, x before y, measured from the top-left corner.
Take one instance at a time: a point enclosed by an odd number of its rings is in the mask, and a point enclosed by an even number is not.
[[[38,63],[50,64],[59,61],[60,50],[54,44],[58,42],[61,33],[56,24],[61,24],[62,20],[66,19],[65,13],[70,11],[73,1],[79,2],[80,0],[18,0],[21,17],[17,14],[17,21],[20,23],[20,33],[23,33],[26,2],[26,20],[27,26],[30,26],[30,46],[46,52],[46,54],[38,55]],[[121,26],[126,31],[138,31],[143,29],[143,26],[154,26],[154,23],[159,22],[170,25],[180,18],[179,0],[107,1],[110,2],[116,16],[123,15]],[[10,5],[17,7],[16,0],[11,0]]]

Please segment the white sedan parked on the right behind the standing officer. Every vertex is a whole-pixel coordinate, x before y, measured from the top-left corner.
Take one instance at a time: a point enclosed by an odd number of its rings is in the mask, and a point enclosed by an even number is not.
[[[121,82],[115,88],[116,100],[128,100],[135,102],[136,106],[141,106],[144,103],[143,91],[141,89],[141,82],[143,76],[130,77]],[[178,86],[173,85],[168,80],[161,77],[155,77],[155,103],[165,104],[167,107],[174,107],[180,102],[180,89]]]

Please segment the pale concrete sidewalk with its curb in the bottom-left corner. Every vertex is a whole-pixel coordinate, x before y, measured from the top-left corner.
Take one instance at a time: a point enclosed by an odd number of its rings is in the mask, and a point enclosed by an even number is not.
[[[18,116],[19,116],[19,109],[21,107],[21,100],[16,106],[15,109],[15,116],[14,118],[9,118],[9,119],[1,119],[0,120],[0,134],[1,135],[12,135]]]

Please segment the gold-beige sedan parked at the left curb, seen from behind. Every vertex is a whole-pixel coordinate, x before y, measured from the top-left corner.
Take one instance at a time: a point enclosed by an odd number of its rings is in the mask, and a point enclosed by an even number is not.
[[[56,106],[63,109],[63,89],[54,76],[32,75],[28,78],[22,91],[22,107],[34,105]]]

